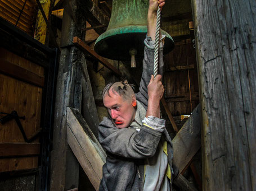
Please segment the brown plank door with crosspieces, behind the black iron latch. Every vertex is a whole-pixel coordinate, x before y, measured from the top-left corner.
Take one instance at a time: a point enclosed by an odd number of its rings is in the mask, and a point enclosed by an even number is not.
[[[43,86],[43,67],[0,48],[0,112],[25,116],[20,122],[28,138],[41,129]],[[39,153],[39,138],[26,143],[15,119],[0,123],[0,173],[36,169]]]

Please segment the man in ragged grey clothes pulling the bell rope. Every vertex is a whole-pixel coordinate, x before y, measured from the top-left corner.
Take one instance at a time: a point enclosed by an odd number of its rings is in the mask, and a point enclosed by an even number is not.
[[[156,11],[165,0],[150,0],[147,16],[143,72],[139,92],[126,82],[104,88],[104,106],[109,118],[99,125],[99,140],[107,153],[100,190],[170,190],[172,142],[165,120],[160,119],[164,93],[161,75],[154,77]],[[160,44],[159,73],[163,73],[163,43]]]

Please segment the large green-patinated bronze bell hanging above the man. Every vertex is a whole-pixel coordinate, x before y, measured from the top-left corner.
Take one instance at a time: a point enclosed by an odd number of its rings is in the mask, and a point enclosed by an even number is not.
[[[147,34],[149,0],[113,0],[111,18],[107,30],[95,43],[95,52],[113,60],[141,59]],[[164,30],[164,54],[174,48],[172,37]],[[133,63],[135,64],[135,63]]]

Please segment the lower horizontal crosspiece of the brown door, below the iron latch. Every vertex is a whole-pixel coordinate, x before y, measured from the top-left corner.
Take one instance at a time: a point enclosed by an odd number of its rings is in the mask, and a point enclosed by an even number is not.
[[[0,157],[35,156],[40,154],[40,143],[0,143]]]

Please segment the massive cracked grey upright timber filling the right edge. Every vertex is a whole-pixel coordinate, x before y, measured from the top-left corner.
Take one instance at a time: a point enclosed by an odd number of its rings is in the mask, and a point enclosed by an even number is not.
[[[256,2],[193,0],[204,190],[256,190]]]

